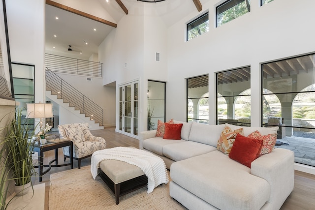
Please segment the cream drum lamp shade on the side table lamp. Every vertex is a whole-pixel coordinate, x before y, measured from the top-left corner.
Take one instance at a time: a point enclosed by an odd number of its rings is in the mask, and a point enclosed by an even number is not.
[[[26,104],[27,115],[26,118],[52,118],[53,116],[53,104]]]

